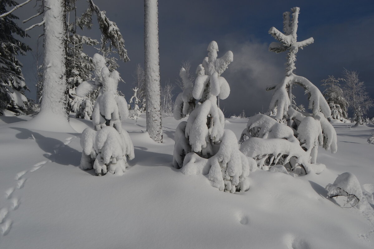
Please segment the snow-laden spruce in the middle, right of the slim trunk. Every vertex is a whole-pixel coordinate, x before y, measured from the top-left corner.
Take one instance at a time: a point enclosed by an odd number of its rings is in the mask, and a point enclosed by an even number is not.
[[[225,119],[217,106],[217,96],[226,99],[230,94],[221,74],[233,61],[233,53],[228,51],[217,58],[217,52],[218,45],[212,41],[208,57],[197,67],[194,84],[186,69],[180,70],[184,90],[175,101],[174,118],[189,116],[175,131],[173,165],[186,175],[208,175],[212,186],[235,193],[249,189],[247,177],[256,164],[239,151],[234,133],[224,130]]]

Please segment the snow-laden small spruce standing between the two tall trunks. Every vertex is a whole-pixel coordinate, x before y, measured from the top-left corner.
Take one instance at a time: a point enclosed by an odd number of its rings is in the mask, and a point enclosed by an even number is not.
[[[115,70],[109,72],[101,55],[95,54],[93,57],[95,82],[85,81],[81,83],[82,88],[81,85],[77,87],[78,93],[82,90],[85,94],[86,91],[101,86],[92,112],[95,130],[86,128],[82,134],[83,152],[80,168],[93,168],[97,175],[104,175],[107,172],[122,175],[127,160],[134,158],[134,146],[129,134],[122,129],[121,123],[121,120],[128,118],[128,106],[125,98],[119,96],[117,91],[119,73]]]

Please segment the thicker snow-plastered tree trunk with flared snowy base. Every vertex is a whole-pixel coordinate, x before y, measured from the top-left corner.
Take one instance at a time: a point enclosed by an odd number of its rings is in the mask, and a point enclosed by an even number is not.
[[[43,94],[39,114],[31,123],[49,131],[72,131],[66,82],[65,0],[44,0]]]

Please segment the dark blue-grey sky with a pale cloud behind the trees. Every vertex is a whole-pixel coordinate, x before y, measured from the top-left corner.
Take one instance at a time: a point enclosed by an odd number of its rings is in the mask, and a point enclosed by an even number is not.
[[[120,72],[126,84],[120,90],[129,99],[132,95],[132,74],[138,63],[144,63],[143,25],[144,3],[141,0],[94,0],[107,16],[117,23],[128,50],[130,62],[120,62]],[[31,2],[15,12],[21,20],[36,13]],[[78,1],[77,13],[87,6]],[[284,76],[286,54],[268,52],[275,41],[267,32],[270,27],[282,29],[282,13],[300,7],[298,40],[313,37],[314,44],[300,50],[295,73],[319,86],[328,75],[340,77],[343,68],[359,71],[367,90],[374,97],[374,2],[373,1],[213,1],[213,0],[159,0],[160,75],[161,83],[178,78],[182,60],[190,60],[193,71],[207,56],[206,47],[217,41],[222,56],[232,50],[234,62],[222,76],[231,87],[231,94],[221,101],[226,116],[247,115],[266,111],[272,93],[264,88]],[[27,28],[35,21],[22,24]],[[25,40],[35,46],[42,28],[35,28]],[[97,23],[81,34],[99,38]],[[95,50],[87,50],[89,55]],[[24,75],[35,96],[32,78],[32,57],[22,56]],[[320,88],[322,91],[323,88]],[[176,90],[175,94],[179,91]],[[299,90],[296,101],[305,103],[306,96]],[[374,116],[374,110],[369,113]]]

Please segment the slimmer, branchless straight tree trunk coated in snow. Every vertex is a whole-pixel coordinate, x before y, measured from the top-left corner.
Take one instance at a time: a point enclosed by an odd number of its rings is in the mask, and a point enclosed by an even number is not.
[[[162,143],[157,0],[144,0],[144,53],[147,131]]]

